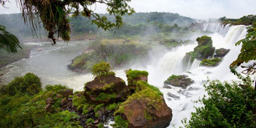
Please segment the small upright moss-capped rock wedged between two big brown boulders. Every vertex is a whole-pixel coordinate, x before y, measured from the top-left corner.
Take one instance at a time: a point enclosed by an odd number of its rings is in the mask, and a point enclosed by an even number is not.
[[[137,81],[145,81],[147,82],[147,71],[140,71],[140,70],[126,70],[126,77],[128,81],[128,87],[132,92],[136,89]]]

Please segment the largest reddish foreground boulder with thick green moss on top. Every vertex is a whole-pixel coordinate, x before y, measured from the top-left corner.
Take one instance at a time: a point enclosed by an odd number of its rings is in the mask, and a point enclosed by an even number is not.
[[[128,128],[166,128],[172,120],[172,110],[157,87],[138,81],[134,94],[123,102],[115,115],[128,120]]]

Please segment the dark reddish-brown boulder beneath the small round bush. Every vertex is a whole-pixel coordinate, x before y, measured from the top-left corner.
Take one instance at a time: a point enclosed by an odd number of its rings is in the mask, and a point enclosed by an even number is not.
[[[105,90],[103,90],[106,84],[114,84],[114,86],[110,88],[105,88]],[[104,101],[96,100],[96,98],[101,93],[105,93],[107,95],[111,95],[114,93],[115,98],[114,100],[110,98]],[[121,78],[114,75],[101,76],[100,78],[95,77],[93,81],[87,83],[84,91],[84,96],[87,99],[90,99],[92,102],[97,103],[113,103],[118,101],[124,101],[126,97],[130,94],[131,92],[125,82]]]

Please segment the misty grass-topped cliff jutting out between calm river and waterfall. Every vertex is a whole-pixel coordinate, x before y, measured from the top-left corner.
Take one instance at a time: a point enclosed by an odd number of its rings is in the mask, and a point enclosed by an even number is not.
[[[68,69],[75,72],[90,72],[93,65],[99,61],[109,62],[111,66],[118,67],[133,60],[144,60],[150,48],[150,45],[137,40],[96,40],[90,44],[88,52],[72,60]]]

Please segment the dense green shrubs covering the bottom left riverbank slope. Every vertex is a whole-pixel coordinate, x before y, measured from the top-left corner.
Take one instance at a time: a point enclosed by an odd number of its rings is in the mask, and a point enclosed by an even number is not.
[[[33,73],[16,77],[0,87],[0,127],[76,127],[81,128],[76,112],[60,111],[62,85],[41,88],[40,78]],[[46,112],[45,99],[53,98],[52,113]]]

